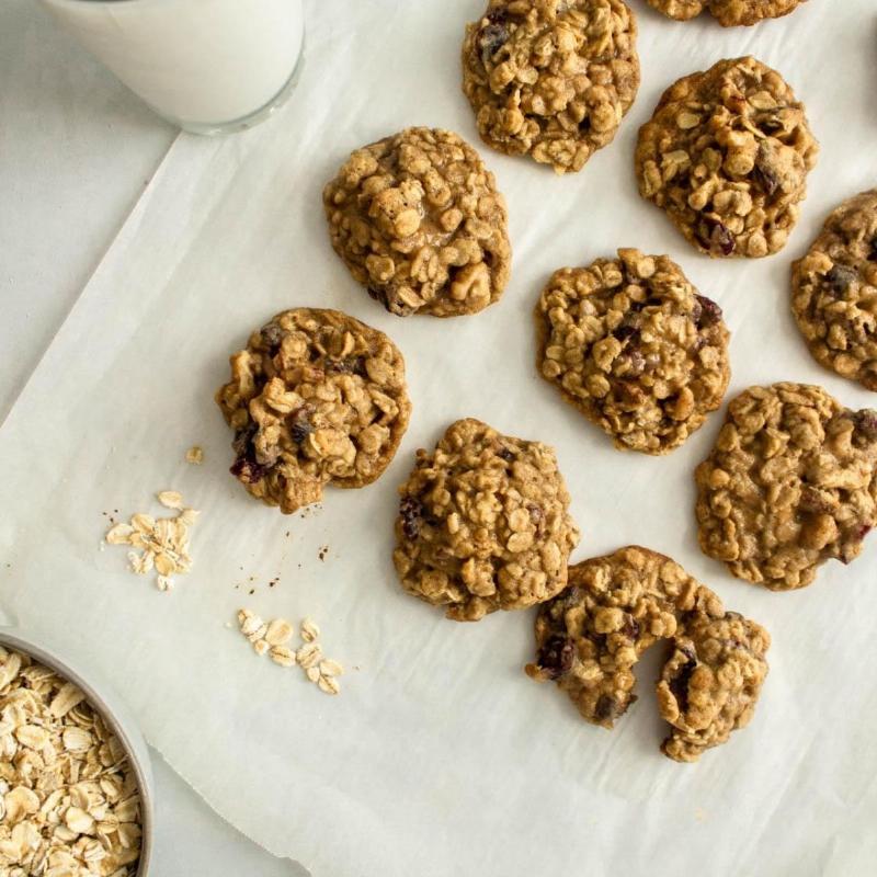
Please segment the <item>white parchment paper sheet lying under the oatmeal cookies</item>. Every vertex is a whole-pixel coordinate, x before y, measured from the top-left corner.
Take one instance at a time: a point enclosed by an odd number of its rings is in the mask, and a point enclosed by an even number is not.
[[[225,818],[320,877],[868,874],[877,545],[798,593],[733,580],[701,555],[692,512],[692,470],[720,417],[667,458],[613,451],[537,377],[529,314],[555,267],[619,246],[669,252],[725,309],[731,392],[795,379],[873,405],[810,360],[787,287],[827,212],[877,180],[877,12],[868,0],[811,0],[725,31],[636,2],[639,99],[610,148],[556,178],[478,141],[457,56],[480,9],[314,0],[304,76],[282,113],[235,137],[179,137],[0,432],[0,604],[112,674],[150,742]],[[787,249],[717,264],[639,200],[633,149],[667,84],[744,53],[786,76],[823,151]],[[329,247],[323,182],[351,149],[412,124],[467,137],[509,202],[512,281],[476,317],[387,315]],[[317,513],[287,519],[227,475],[231,436],[212,395],[249,331],[301,305],[388,332],[414,412],[377,483],[330,490]],[[401,592],[396,487],[414,449],[464,415],[557,447],[583,532],[574,559],[641,543],[771,630],[771,675],[748,730],[697,765],[674,764],[658,752],[656,656],[640,668],[640,702],[607,733],[523,675],[533,613],[457,625]],[[205,448],[202,467],[183,462],[192,444]],[[100,540],[106,515],[158,511],[150,498],[171,487],[203,514],[192,573],[162,594]],[[348,668],[341,696],[258,659],[226,627],[244,605],[314,616]]]

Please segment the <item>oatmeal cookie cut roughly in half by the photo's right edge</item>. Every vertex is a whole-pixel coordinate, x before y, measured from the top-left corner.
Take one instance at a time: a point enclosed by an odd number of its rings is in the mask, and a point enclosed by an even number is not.
[[[822,365],[877,390],[877,189],[838,207],[793,265],[791,310]]]

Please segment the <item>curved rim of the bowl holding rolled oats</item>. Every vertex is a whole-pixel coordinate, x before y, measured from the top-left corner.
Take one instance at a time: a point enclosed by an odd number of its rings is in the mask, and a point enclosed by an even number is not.
[[[136,877],[146,877],[149,873],[149,864],[152,858],[152,835],[155,831],[151,765],[147,764],[145,766],[143,764],[140,755],[138,754],[138,749],[133,742],[124,720],[116,716],[101,693],[86,680],[78,670],[71,667],[66,658],[58,657],[54,648],[46,648],[35,642],[26,634],[22,634],[16,628],[2,626],[0,626],[0,646],[4,648],[12,647],[16,651],[24,652],[34,660],[46,664],[46,667],[54,670],[62,679],[80,687],[86,693],[91,705],[101,714],[101,717],[121,741],[125,754],[128,756],[128,762],[134,770],[137,788],[140,793],[140,857],[137,861]],[[136,728],[136,730],[138,733],[140,732],[139,728]],[[146,744],[145,738],[143,738],[143,740],[144,744]],[[148,752],[146,758],[149,758]]]

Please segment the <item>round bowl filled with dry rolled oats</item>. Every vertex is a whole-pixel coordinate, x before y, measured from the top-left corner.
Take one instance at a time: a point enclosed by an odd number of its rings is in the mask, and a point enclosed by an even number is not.
[[[149,753],[126,707],[0,628],[0,874],[145,877]]]

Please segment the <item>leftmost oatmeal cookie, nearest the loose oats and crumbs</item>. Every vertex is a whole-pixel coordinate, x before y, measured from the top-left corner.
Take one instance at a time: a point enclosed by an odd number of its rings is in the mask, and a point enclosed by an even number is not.
[[[327,483],[380,476],[408,428],[405,361],[377,329],[338,310],[278,314],[231,356],[216,394],[235,430],[231,474],[291,514]]]

